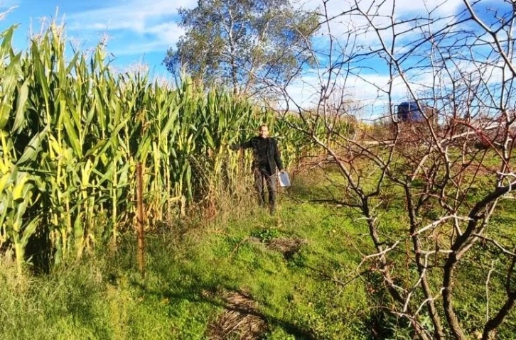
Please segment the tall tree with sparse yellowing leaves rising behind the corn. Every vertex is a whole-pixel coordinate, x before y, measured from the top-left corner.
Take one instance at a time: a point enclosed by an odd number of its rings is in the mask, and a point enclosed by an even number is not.
[[[315,13],[286,0],[198,0],[179,15],[186,33],[168,50],[168,71],[247,96],[299,74],[311,61],[311,37],[319,26]]]

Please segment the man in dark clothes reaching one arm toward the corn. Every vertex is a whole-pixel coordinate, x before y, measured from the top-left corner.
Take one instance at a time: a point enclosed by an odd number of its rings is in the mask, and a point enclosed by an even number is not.
[[[252,148],[254,160],[252,171],[254,174],[254,186],[258,192],[258,202],[265,207],[264,182],[269,192],[269,212],[274,214],[276,207],[276,166],[280,172],[284,172],[281,155],[279,154],[278,143],[274,138],[269,137],[269,127],[261,125],[259,135],[251,138],[242,144],[233,144],[232,149]]]

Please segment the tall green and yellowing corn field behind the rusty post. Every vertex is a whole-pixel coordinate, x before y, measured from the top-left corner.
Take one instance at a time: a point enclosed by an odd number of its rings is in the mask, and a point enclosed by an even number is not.
[[[222,185],[231,190],[242,161],[229,146],[259,124],[283,137],[287,166],[308,146],[271,112],[226,92],[116,73],[102,45],[70,56],[62,26],[15,53],[15,30],[0,35],[0,251],[14,249],[18,272],[41,240],[56,265],[131,231],[138,162],[146,214],[167,221]],[[246,153],[247,172],[249,161]]]

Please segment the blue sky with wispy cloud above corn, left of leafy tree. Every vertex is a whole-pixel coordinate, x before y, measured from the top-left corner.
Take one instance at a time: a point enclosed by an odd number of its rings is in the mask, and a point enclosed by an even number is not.
[[[195,4],[195,0],[0,0],[0,12],[16,6],[0,21],[0,29],[19,24],[14,45],[24,50],[29,29],[37,32],[42,18],[56,18],[65,22],[68,38],[84,49],[107,34],[107,50],[115,57],[112,65],[123,70],[144,63],[154,75],[166,76],[161,62],[183,33],[177,26],[177,8]]]

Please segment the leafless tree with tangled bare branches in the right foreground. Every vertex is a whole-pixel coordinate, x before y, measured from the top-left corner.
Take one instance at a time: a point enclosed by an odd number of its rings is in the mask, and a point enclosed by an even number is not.
[[[306,44],[316,67],[299,69],[302,85],[276,89],[283,114],[299,116],[291,128],[326,150],[343,176],[343,194],[327,202],[359,212],[357,223],[367,226],[374,251],[356,271],[369,265],[380,275],[390,296],[381,307],[407,320],[418,339],[466,339],[472,328],[458,315],[456,290],[467,287],[464,270],[485,253],[483,283],[470,284],[486,287],[485,320],[476,328],[492,339],[516,302],[516,242],[492,223],[516,188],[516,2],[495,9],[488,1],[431,2],[421,1],[426,11],[414,15],[402,1],[323,0],[323,36]],[[355,105],[343,89],[355,92]],[[397,114],[402,101],[414,103],[418,119]],[[361,133],[343,133],[332,106],[353,116],[369,111],[386,131],[360,124]],[[382,219],[393,192],[404,204],[396,230]],[[489,299],[495,279],[505,281],[496,303]]]

